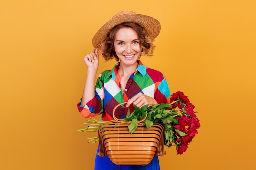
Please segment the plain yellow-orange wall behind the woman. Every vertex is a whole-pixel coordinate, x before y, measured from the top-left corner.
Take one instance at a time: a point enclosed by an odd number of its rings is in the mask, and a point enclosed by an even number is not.
[[[199,134],[162,170],[256,169],[255,0],[9,0],[0,3],[0,169],[92,170],[95,134],[76,108],[97,29],[131,10],[157,18],[155,56],[171,92],[198,111]],[[115,61],[101,58],[99,73]],[[99,117],[98,117],[99,118]]]

